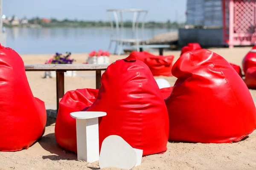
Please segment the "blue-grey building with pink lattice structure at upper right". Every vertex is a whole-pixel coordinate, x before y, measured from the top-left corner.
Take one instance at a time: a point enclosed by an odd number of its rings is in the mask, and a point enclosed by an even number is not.
[[[186,15],[186,27],[179,30],[181,45],[256,44],[256,0],[187,0]]]

